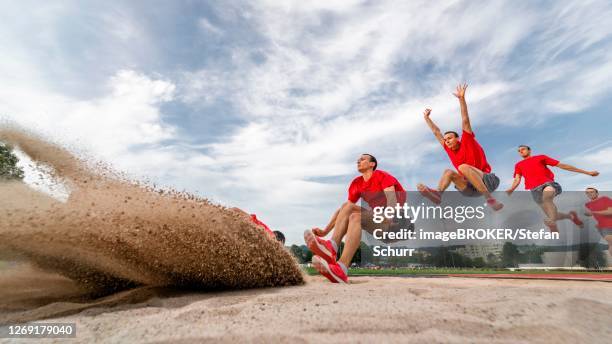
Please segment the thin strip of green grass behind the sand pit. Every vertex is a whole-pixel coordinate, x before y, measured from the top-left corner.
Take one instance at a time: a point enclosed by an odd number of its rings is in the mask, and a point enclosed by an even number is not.
[[[314,268],[304,268],[309,275],[318,275]],[[349,276],[402,276],[402,275],[448,275],[448,274],[550,274],[562,272],[564,274],[593,274],[593,273],[610,273],[609,271],[576,271],[576,270],[506,270],[506,269],[490,269],[490,268],[397,268],[397,269],[380,269],[371,270],[363,268],[350,268]]]

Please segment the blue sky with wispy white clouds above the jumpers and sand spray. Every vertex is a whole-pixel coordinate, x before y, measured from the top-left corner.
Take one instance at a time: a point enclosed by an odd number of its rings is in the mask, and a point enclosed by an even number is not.
[[[135,176],[323,226],[362,152],[406,189],[450,163],[455,84],[494,172],[529,144],[612,188],[608,1],[4,1],[0,119]]]

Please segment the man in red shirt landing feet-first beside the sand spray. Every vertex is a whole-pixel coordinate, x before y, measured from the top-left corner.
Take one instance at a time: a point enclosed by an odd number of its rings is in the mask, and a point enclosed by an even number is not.
[[[371,211],[357,205],[361,198],[371,208],[377,206],[395,207],[406,201],[402,185],[389,173],[377,170],[378,162],[371,154],[362,154],[357,160],[361,176],[353,179],[348,189],[348,201],[332,216],[325,229],[313,228],[304,232],[304,240],[313,253],[312,265],[333,283],[348,283],[347,268],[361,243],[361,230],[376,228],[388,230],[388,221],[375,225]],[[363,217],[362,217],[363,215]],[[331,240],[322,237],[334,230]],[[338,247],[344,241],[342,256],[336,261]]]

